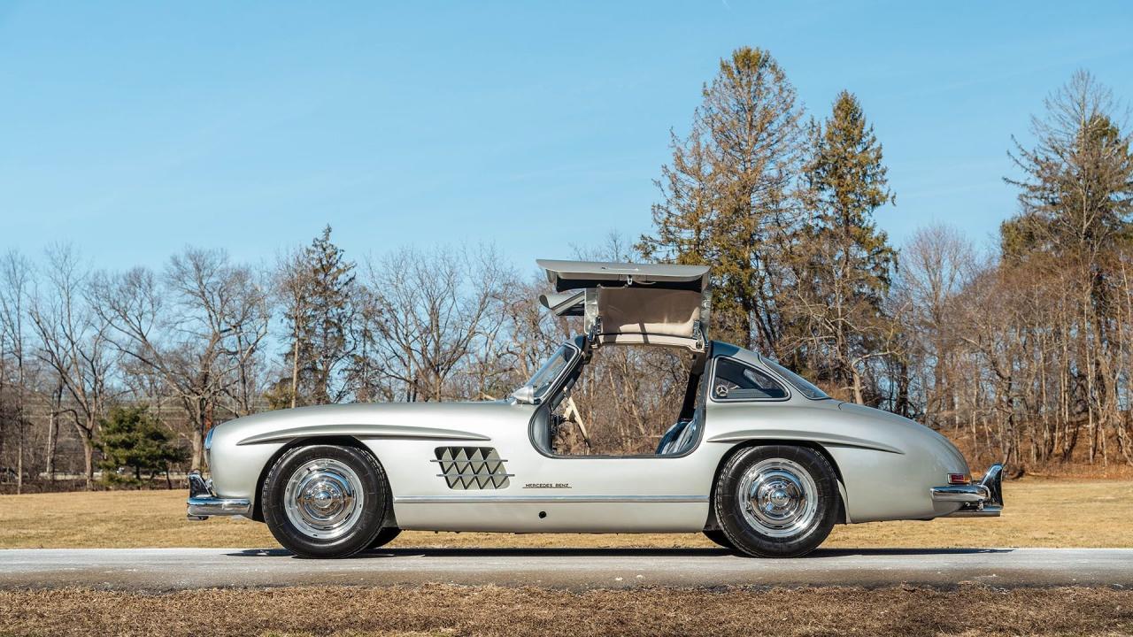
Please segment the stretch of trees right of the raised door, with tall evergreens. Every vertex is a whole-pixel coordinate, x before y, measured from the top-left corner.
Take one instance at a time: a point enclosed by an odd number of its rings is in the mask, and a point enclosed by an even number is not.
[[[1077,71],[1010,148],[1017,210],[981,252],[947,226],[903,249],[850,92],[807,117],[775,59],[736,50],[658,180],[650,258],[710,263],[717,336],[833,396],[946,430],[977,459],[1133,464],[1127,112]]]

